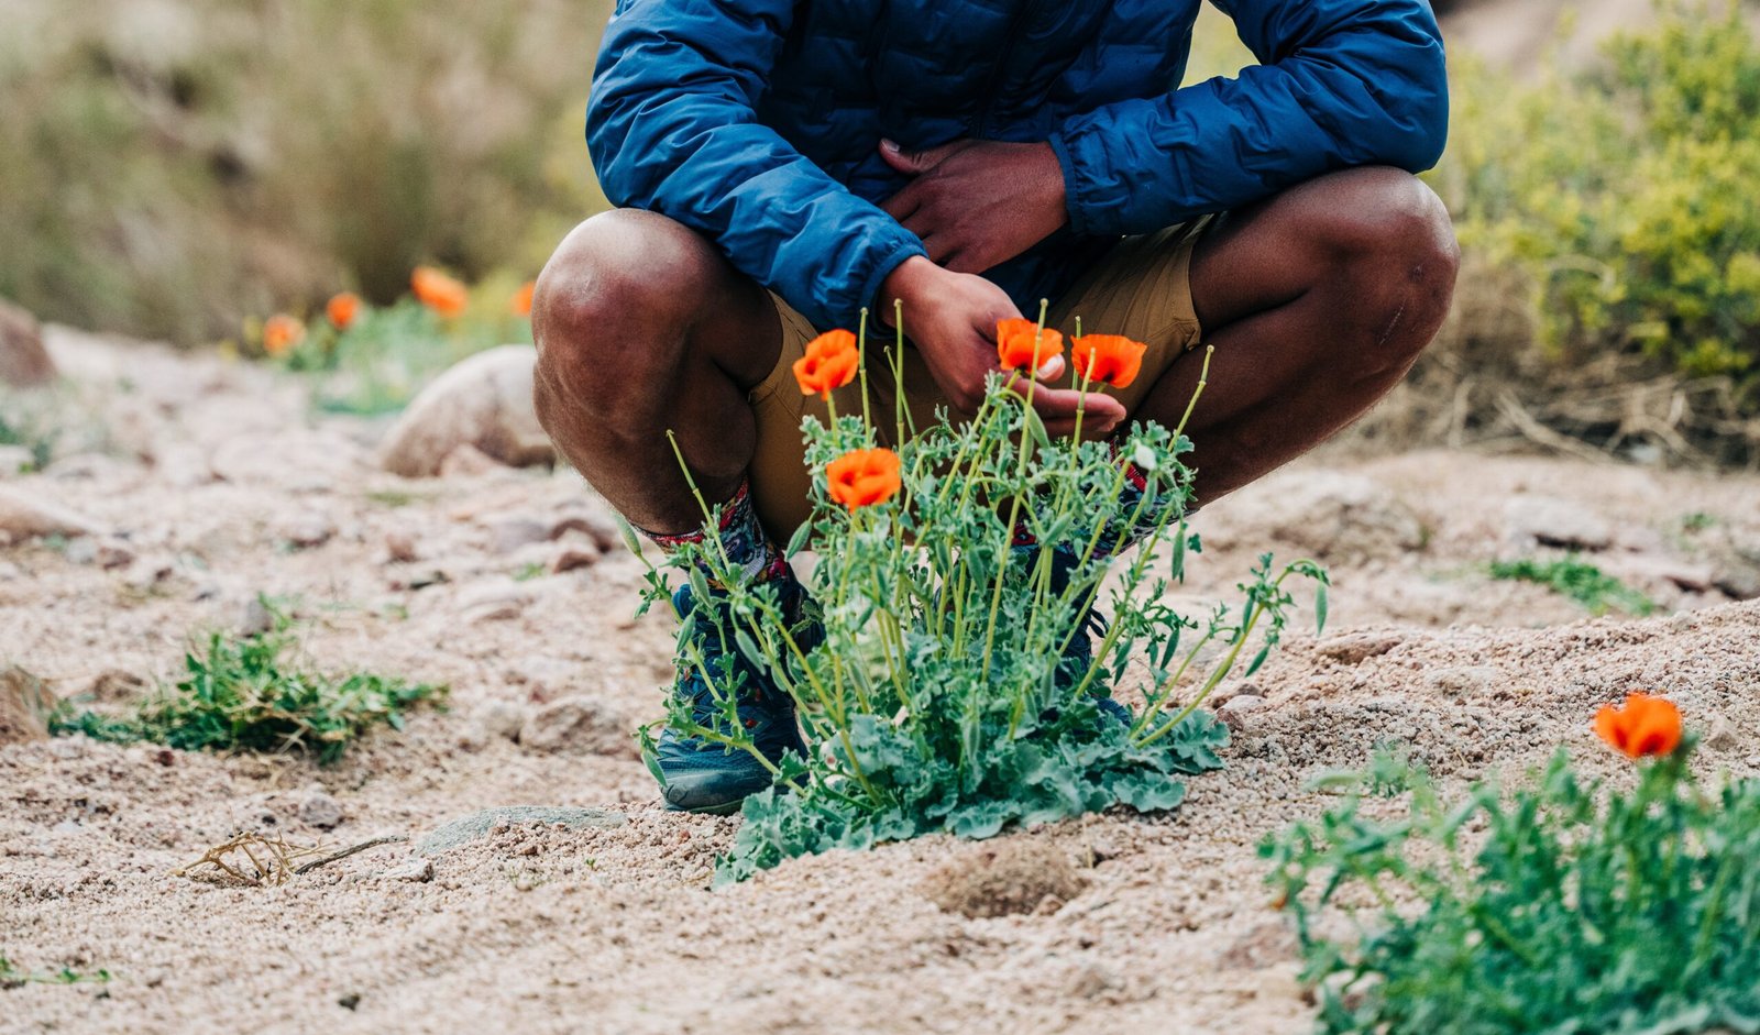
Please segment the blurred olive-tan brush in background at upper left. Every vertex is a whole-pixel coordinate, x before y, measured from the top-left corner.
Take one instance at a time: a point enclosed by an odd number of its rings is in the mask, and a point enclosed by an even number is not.
[[[604,204],[609,0],[7,0],[0,296],[202,341],[417,262],[530,276]]]

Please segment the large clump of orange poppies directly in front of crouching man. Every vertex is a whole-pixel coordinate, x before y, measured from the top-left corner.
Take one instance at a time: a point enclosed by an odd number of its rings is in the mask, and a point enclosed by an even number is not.
[[[794,364],[829,410],[803,424],[813,512],[787,546],[818,558],[808,614],[744,581],[713,537],[648,572],[644,607],[671,598],[676,570],[727,630],[715,662],[681,639],[720,718],[676,697],[667,723],[750,752],[776,778],[744,801],[723,880],[936,831],[987,838],[1114,804],[1172,810],[1184,776],[1221,764],[1227,729],[1200,709],[1206,695],[1264,662],[1294,604],[1290,576],[1324,590],[1311,562],[1274,569],[1265,556],[1237,607],[1176,613],[1165,598],[1200,546],[1184,525],[1183,428],[1051,438],[1024,371],[1044,371],[1063,336],[1035,320],[998,327],[998,370],[968,421],[919,424],[898,391],[906,317],[891,347],[832,331]],[[831,396],[852,384],[859,405]],[[1126,530],[1142,540],[1114,562]],[[1324,593],[1316,611],[1324,620]],[[773,762],[743,732],[737,695],[753,671],[794,697],[804,757]],[[653,730],[642,746],[653,762]]]

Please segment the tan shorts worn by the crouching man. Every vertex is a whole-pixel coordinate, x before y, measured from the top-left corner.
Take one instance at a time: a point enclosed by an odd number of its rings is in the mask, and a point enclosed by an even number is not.
[[[1105,389],[1125,403],[1128,414],[1137,412],[1167,368],[1202,336],[1192,306],[1192,252],[1209,224],[1211,217],[1204,217],[1155,234],[1125,238],[1075,282],[1045,317],[1045,326],[1065,334],[1074,333],[1079,315],[1086,331],[1125,334],[1149,347],[1142,357],[1142,373],[1130,387]],[[781,317],[783,345],[776,370],[750,396],[759,422],[757,456],[752,459],[750,477],[752,502],[759,518],[776,542],[787,542],[811,512],[811,479],[806,470],[801,421],[808,415],[824,421],[825,403],[818,396],[801,394],[794,380],[794,361],[806,354],[806,343],[818,336],[820,329],[808,324],[806,317],[794,312],[788,303],[776,296],[771,299],[776,303],[776,315]],[[908,329],[908,313],[905,322]],[[884,356],[868,356],[868,380],[873,393],[869,405],[891,414],[896,396]],[[859,384],[834,396],[840,414],[861,412]],[[947,405],[915,349],[905,350],[905,405],[910,407],[919,428],[935,419],[936,407]],[[892,437],[892,422],[878,424],[882,442],[896,445],[887,442]]]

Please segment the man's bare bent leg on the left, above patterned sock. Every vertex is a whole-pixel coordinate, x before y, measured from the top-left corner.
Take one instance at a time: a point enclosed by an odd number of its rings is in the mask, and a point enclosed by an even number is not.
[[[711,505],[757,444],[746,394],[781,352],[769,296],[660,215],[620,209],[568,234],[539,276],[539,421],[563,458],[639,528],[702,526],[667,431]]]

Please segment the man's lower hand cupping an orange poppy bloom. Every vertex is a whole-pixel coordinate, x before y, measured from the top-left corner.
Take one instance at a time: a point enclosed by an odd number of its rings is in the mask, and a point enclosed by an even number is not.
[[[880,289],[880,319],[892,322],[892,301],[905,303],[905,331],[922,354],[929,375],[942,387],[949,405],[966,417],[984,401],[984,375],[1000,370],[996,357],[996,322],[1019,317],[1007,292],[982,276],[952,273],[920,255],[906,259]],[[1052,389],[1044,382],[1061,377],[1063,359],[1040,368],[1033,387],[1033,408],[1051,435],[1075,429],[1075,410],[1082,403],[1074,389]],[[1016,391],[1026,394],[1028,382]],[[1089,393],[1082,431],[1104,435],[1125,419],[1125,407],[1112,396]]]

